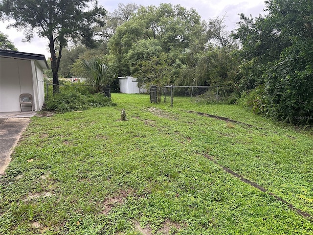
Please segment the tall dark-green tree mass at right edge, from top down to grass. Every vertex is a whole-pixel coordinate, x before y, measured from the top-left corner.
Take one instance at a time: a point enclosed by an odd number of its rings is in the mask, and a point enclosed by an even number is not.
[[[295,124],[313,117],[313,1],[268,0],[268,15],[241,15],[239,83],[260,86],[257,110]]]

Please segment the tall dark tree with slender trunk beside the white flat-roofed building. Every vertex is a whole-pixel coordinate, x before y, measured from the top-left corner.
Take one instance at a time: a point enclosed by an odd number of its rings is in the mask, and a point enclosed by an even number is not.
[[[58,85],[62,49],[70,40],[93,47],[93,27],[103,25],[106,11],[97,0],[1,0],[0,14],[4,20],[14,20],[10,27],[24,30],[26,41],[31,41],[34,31],[49,40],[53,84]],[[58,92],[58,86],[53,91]]]

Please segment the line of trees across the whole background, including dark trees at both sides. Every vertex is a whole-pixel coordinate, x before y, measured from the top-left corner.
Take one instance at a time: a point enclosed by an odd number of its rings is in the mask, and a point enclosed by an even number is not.
[[[112,74],[141,84],[235,85],[255,113],[312,123],[312,0],[268,0],[266,15],[241,14],[233,32],[224,17],[203,21],[181,5],[119,4],[108,13],[94,0],[31,2],[28,9],[27,0],[1,0],[1,18],[15,20],[28,40],[34,28],[49,39],[55,84],[58,74],[80,76],[83,62],[98,57]]]

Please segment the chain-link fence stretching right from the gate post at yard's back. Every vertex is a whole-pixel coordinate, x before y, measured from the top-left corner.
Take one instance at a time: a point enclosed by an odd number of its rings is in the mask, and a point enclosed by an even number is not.
[[[237,94],[235,86],[165,86],[156,87],[156,102],[184,99],[202,103],[231,103]]]

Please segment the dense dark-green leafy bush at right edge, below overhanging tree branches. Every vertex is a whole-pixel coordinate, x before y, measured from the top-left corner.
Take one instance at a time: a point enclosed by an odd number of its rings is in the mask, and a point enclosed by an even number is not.
[[[313,123],[313,40],[297,40],[265,73],[268,116],[293,124]]]

